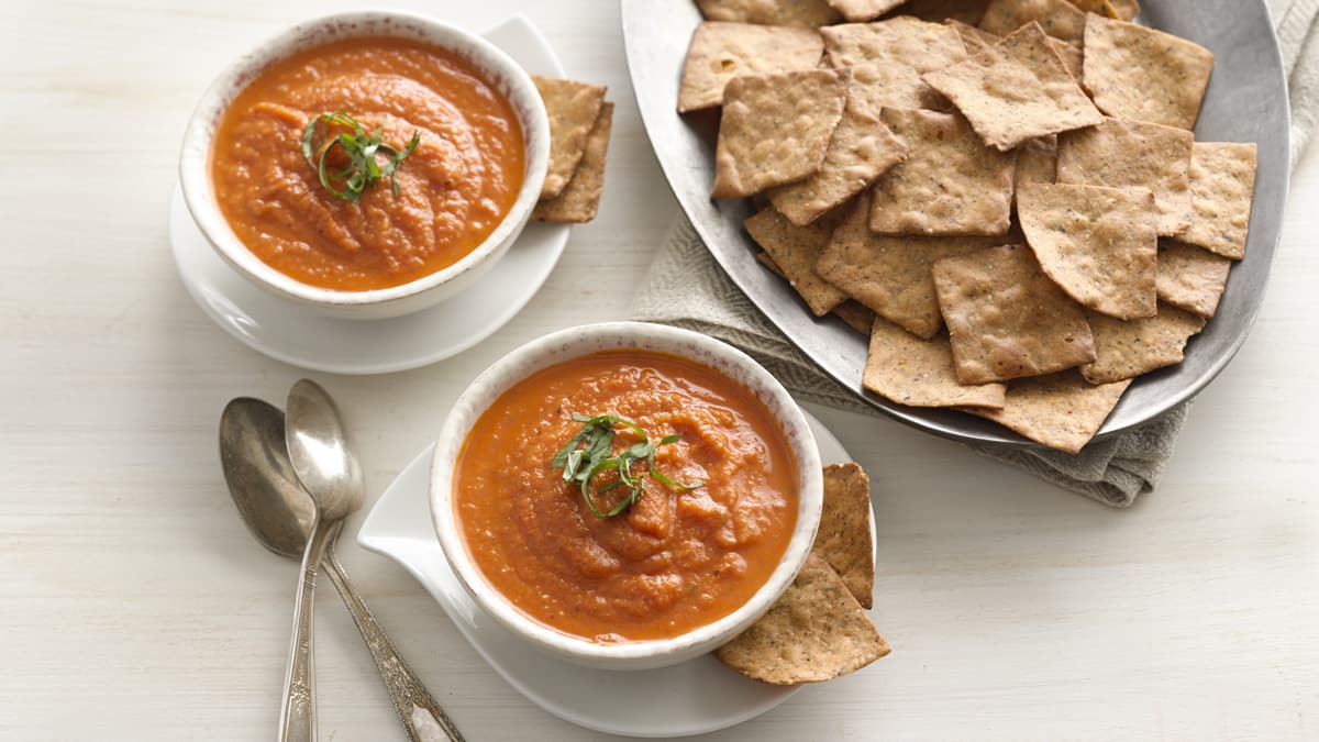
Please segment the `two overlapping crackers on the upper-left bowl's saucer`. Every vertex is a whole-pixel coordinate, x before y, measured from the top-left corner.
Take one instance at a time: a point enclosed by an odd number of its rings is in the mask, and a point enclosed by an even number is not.
[[[613,103],[604,86],[532,75],[550,118],[550,166],[536,222],[580,223],[595,219],[604,193]]]

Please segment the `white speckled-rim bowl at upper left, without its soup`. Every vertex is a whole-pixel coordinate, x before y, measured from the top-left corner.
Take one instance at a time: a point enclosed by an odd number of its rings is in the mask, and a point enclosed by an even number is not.
[[[235,96],[265,67],[290,54],[359,36],[394,36],[441,46],[472,63],[512,103],[526,147],[522,189],[499,227],[462,260],[415,281],[386,289],[344,292],[311,287],[270,268],[233,234],[220,213],[210,177],[211,137]],[[365,11],[301,22],[240,57],[202,95],[193,112],[179,180],[197,226],[240,275],[270,293],[353,320],[397,317],[443,301],[471,285],[521,234],[541,194],[549,168],[550,121],[532,78],[508,54],[459,28],[410,13]]]

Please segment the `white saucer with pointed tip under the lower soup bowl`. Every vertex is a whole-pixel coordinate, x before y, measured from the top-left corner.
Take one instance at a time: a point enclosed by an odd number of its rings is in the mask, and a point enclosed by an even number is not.
[[[824,463],[852,461],[809,412]],[[551,714],[627,737],[686,737],[724,729],[787,700],[795,687],[748,680],[711,655],[648,671],[603,671],[551,656],[481,611],[445,560],[430,523],[433,446],[421,452],[367,515],[357,543],[404,566],[439,602],[472,647],[520,693]],[[873,539],[874,519],[871,518]]]

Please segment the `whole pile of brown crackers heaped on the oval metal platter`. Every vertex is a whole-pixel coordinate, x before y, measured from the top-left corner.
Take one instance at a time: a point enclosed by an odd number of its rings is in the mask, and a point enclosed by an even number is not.
[[[1076,453],[1213,317],[1256,145],[1194,140],[1213,55],[1133,0],[698,4],[678,110],[721,110],[712,197],[869,333],[871,392]]]

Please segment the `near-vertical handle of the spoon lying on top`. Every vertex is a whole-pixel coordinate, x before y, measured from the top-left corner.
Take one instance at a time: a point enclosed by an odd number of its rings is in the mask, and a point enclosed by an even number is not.
[[[311,652],[311,615],[315,606],[317,565],[343,522],[324,524],[317,519],[307,548],[302,552],[298,597],[293,603],[293,639],[289,642],[289,668],[284,675],[284,702],[280,708],[281,742],[315,742],[317,676]]]

